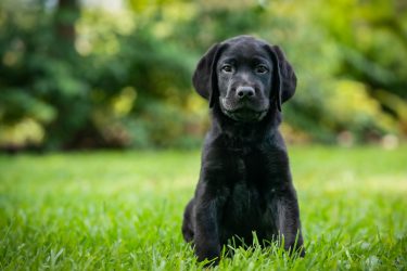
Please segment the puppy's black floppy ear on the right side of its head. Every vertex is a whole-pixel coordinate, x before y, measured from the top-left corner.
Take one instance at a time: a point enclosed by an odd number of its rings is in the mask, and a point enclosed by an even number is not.
[[[284,53],[278,46],[267,46],[272,62],[272,89],[271,96],[276,99],[277,108],[281,112],[281,104],[294,95],[296,76],[293,67],[287,61]]]

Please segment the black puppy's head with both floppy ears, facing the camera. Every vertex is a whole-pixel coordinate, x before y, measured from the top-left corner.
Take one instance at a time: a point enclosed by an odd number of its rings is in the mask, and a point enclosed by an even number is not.
[[[277,46],[250,36],[214,44],[200,60],[192,82],[231,119],[259,121],[295,92],[293,68]]]

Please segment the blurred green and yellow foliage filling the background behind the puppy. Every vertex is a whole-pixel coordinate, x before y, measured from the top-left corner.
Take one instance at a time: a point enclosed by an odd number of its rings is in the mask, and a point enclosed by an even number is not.
[[[194,65],[241,34],[281,46],[296,70],[289,139],[407,134],[405,1],[119,3],[1,1],[1,149],[195,146],[208,120]]]

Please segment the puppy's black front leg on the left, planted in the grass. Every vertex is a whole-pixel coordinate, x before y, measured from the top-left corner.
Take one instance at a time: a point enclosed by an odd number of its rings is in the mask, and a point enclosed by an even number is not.
[[[219,262],[219,198],[212,194],[206,185],[201,185],[196,194],[194,235],[195,254],[199,261],[215,259],[215,264]]]

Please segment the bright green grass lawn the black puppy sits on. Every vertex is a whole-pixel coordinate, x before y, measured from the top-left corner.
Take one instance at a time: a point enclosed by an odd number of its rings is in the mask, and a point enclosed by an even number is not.
[[[307,255],[234,248],[218,270],[406,270],[407,146],[290,147]],[[199,152],[0,156],[0,270],[200,270],[183,243]]]

